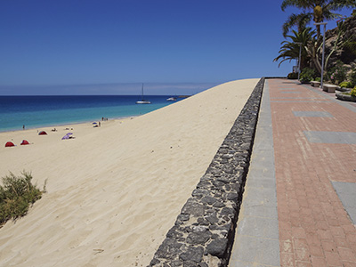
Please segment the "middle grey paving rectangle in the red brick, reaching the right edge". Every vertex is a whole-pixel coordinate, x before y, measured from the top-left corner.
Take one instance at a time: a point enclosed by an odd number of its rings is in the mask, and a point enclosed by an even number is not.
[[[356,133],[303,131],[309,142],[356,144]]]

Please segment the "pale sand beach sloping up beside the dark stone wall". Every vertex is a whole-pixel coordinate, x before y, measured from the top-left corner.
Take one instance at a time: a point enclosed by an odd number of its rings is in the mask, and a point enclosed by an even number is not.
[[[0,133],[0,177],[47,180],[28,214],[0,229],[0,266],[147,266],[258,80],[101,127]],[[69,132],[76,138],[62,141]]]

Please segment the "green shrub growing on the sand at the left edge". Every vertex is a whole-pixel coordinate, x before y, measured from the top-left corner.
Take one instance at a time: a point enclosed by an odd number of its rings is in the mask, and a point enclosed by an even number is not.
[[[32,175],[25,171],[23,177],[10,173],[3,177],[3,186],[0,185],[0,225],[10,219],[17,219],[27,214],[29,205],[41,198],[44,189],[37,189],[32,184]]]

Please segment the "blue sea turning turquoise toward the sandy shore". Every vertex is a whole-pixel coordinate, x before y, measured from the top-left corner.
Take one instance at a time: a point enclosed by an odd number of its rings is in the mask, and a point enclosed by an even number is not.
[[[168,97],[148,95],[151,104],[136,104],[137,95],[0,96],[0,132],[140,116],[174,103]]]

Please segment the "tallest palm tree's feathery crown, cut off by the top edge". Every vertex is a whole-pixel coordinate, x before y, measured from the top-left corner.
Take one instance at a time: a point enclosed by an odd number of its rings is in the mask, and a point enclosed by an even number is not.
[[[334,13],[343,8],[356,7],[355,0],[283,0],[280,5],[282,11],[285,11],[288,6],[295,6],[302,9],[299,15],[292,14],[289,16],[286,23],[283,25],[283,33],[287,33],[290,28],[297,26],[300,22],[306,23],[314,20],[319,23],[324,20],[333,20],[340,17],[339,14]],[[302,24],[303,25],[303,24]],[[320,37],[320,25],[317,25],[317,36]]]

